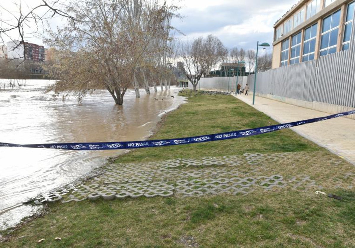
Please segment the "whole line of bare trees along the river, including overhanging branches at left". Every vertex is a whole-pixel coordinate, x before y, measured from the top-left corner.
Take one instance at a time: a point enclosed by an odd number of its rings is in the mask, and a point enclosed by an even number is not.
[[[179,7],[157,0],[78,0],[66,5],[43,1],[28,15],[20,15],[18,25],[1,27],[0,34],[17,28],[23,41],[28,19],[42,20],[35,12],[40,7],[66,20],[56,30],[47,29],[44,38],[56,51],[55,60],[44,68],[50,78],[58,79],[49,89],[57,96],[75,94],[81,100],[95,89],[106,89],[122,105],[129,88],[136,97],[140,88],[147,94],[149,86],[155,92],[159,86],[167,89],[176,80],[172,70],[176,61],[183,62],[179,69],[195,91],[200,78],[219,62],[246,60],[249,71],[255,64],[255,51],[228,50],[213,35],[180,43],[175,38],[180,31],[171,26],[173,18],[181,17]],[[270,55],[261,57],[260,71],[270,68],[269,63]]]

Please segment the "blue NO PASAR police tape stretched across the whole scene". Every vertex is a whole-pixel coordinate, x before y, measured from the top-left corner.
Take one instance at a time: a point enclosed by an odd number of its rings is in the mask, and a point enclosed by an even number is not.
[[[52,148],[64,150],[115,150],[115,149],[132,149],[143,147],[160,147],[173,146],[192,143],[202,143],[215,140],[228,140],[241,137],[248,137],[258,134],[270,133],[273,131],[291,128],[293,126],[304,125],[313,122],[320,122],[322,120],[333,119],[345,115],[355,114],[355,111],[343,112],[339,114],[332,114],[325,117],[313,118],[308,120],[301,120],[298,122],[289,122],[284,124],[263,126],[261,128],[245,129],[239,131],[231,131],[226,133],[201,135],[194,137],[186,137],[180,139],[165,139],[165,140],[146,140],[146,141],[124,141],[124,142],[95,142],[95,143],[48,143],[48,144],[32,144],[32,145],[18,145],[12,143],[1,143],[0,146],[6,147],[27,147],[27,148]]]

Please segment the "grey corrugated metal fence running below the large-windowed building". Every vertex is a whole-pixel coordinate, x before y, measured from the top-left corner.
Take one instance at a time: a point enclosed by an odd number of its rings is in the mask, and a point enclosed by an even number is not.
[[[355,107],[354,48],[257,74],[257,93]],[[251,91],[254,75],[247,77]]]

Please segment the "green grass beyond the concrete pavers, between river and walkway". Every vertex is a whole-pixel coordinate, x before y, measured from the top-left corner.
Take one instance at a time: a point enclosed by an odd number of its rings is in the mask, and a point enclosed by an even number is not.
[[[188,98],[164,118],[164,125],[151,139],[173,139],[189,136],[223,133],[277,124],[267,115],[237,100],[233,96],[201,96]],[[291,130],[231,139],[195,143],[190,145],[142,148],[128,156],[119,157],[117,163],[149,162],[174,158],[201,158],[244,153],[276,153],[318,151],[321,148]]]

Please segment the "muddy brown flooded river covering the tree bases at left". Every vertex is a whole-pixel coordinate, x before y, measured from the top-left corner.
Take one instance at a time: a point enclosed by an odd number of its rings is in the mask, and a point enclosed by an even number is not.
[[[116,106],[106,90],[94,91],[81,103],[74,97],[54,101],[51,94],[44,93],[53,81],[20,82],[26,85],[16,82],[11,89],[8,80],[0,79],[0,142],[144,140],[164,113],[184,102],[183,97],[176,96],[178,88],[162,92],[159,88],[158,93],[152,89],[150,96],[142,90],[141,98],[128,90],[123,107]],[[107,157],[123,152],[0,147],[0,229],[36,210],[21,202],[68,184],[103,165]]]

